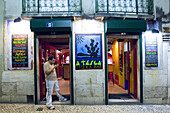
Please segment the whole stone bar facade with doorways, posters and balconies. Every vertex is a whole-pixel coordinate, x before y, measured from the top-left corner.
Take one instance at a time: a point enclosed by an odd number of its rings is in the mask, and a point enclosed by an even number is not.
[[[169,15],[170,0],[0,0],[0,102],[44,101],[54,55],[69,104],[169,104]]]

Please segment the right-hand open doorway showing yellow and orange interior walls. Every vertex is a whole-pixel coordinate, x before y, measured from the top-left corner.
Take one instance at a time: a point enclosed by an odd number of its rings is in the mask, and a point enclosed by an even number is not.
[[[138,40],[138,36],[107,38],[109,103],[139,102]]]

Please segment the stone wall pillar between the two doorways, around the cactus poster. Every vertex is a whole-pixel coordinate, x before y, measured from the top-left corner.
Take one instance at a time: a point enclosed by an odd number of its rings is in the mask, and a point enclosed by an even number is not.
[[[103,69],[75,70],[75,34],[104,33],[104,23],[96,20],[77,20],[73,22],[73,80],[75,104],[105,104],[104,35]]]

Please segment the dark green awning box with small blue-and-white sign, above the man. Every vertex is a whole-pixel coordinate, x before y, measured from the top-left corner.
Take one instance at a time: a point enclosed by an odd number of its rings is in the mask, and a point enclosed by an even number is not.
[[[72,21],[69,18],[32,19],[30,22],[32,32],[70,32]]]

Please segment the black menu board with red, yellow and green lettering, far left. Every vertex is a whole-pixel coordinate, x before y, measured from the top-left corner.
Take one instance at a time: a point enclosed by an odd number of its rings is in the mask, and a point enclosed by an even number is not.
[[[28,67],[28,35],[12,35],[12,67]]]

